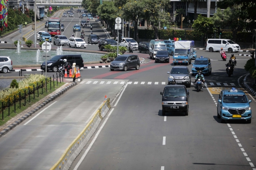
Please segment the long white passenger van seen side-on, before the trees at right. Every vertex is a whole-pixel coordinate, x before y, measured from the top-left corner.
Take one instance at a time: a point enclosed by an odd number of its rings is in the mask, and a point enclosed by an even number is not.
[[[228,39],[208,39],[206,50],[210,52],[220,51],[221,47],[228,52],[240,51],[240,46],[236,42]]]

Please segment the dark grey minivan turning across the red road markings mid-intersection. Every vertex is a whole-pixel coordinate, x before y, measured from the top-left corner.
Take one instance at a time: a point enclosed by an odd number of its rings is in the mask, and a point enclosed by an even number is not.
[[[119,55],[114,61],[110,64],[110,70],[114,71],[115,69],[120,69],[127,71],[130,68],[139,69],[140,61],[137,55],[124,54]]]

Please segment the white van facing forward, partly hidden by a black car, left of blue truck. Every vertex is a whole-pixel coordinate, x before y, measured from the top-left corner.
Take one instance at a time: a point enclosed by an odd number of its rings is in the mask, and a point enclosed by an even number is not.
[[[150,59],[155,59],[157,51],[167,51],[164,40],[151,40],[149,42]]]

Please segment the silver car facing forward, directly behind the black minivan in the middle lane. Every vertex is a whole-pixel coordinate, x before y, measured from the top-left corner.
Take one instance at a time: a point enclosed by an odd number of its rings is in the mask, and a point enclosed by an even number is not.
[[[174,66],[171,72],[167,72],[169,74],[168,77],[168,85],[171,84],[174,79],[177,84],[186,85],[187,87],[191,86],[191,74],[187,66]]]

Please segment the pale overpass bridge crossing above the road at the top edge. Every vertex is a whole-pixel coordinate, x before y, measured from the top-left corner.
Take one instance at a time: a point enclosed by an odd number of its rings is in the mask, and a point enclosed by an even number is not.
[[[39,6],[82,6],[82,0],[36,0]]]

